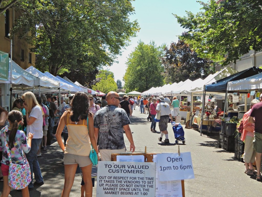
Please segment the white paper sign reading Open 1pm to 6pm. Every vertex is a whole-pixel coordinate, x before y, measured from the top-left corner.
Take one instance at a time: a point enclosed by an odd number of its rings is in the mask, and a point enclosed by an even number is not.
[[[195,178],[190,152],[157,154],[157,169],[160,181]]]

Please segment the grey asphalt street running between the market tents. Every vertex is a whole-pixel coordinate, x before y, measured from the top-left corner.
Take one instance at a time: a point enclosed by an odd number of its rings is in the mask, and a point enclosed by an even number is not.
[[[174,144],[171,124],[168,126],[170,143],[161,143],[157,139],[160,137],[158,126],[156,133],[151,132],[151,122],[146,119],[148,115],[140,114],[138,109],[137,106],[133,116],[130,117],[135,153],[143,153],[145,146],[147,153],[177,152],[178,146]],[[179,143],[180,151],[191,152],[195,174],[195,179],[185,180],[185,196],[261,196],[262,182],[256,181],[255,175],[250,177],[244,173],[244,163],[234,159],[234,152],[227,152],[218,147],[218,135],[200,136],[200,133],[193,129],[184,129],[184,131],[186,142]],[[129,150],[130,144],[125,135],[124,138]],[[29,191],[31,197],[61,196],[64,184],[63,153],[58,143],[52,142],[47,151],[42,151],[42,157],[39,157],[45,184]],[[78,169],[70,196],[80,197],[80,183],[81,176]],[[0,182],[0,191],[2,189],[3,183]],[[11,190],[9,196],[21,196],[21,192]],[[93,188],[93,196],[96,196],[96,187]]]

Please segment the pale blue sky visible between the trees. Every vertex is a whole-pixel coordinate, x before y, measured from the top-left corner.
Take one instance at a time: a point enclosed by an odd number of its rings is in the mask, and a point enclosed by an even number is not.
[[[208,2],[208,0],[202,0]],[[138,20],[140,31],[137,37],[132,38],[130,45],[122,50],[122,55],[117,58],[118,63],[111,67],[104,67],[114,73],[115,81],[122,80],[127,66],[128,55],[134,51],[139,40],[145,44],[154,41],[156,45],[177,42],[178,35],[185,30],[177,23],[176,18],[172,15],[186,15],[185,11],[191,11],[194,14],[200,11],[201,5],[196,0],[136,0],[132,2],[135,8],[135,14],[130,16],[130,20]]]

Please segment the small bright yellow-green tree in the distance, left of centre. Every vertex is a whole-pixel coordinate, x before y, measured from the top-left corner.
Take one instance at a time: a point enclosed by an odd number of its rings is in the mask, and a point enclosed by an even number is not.
[[[92,89],[99,90],[103,93],[117,90],[117,84],[114,81],[114,74],[108,70],[100,70],[96,75],[96,79],[99,80],[95,85],[92,85]]]

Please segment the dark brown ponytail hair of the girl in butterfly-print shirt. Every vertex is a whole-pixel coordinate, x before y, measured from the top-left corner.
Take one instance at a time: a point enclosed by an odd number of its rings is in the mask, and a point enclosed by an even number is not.
[[[15,136],[16,136],[17,129],[18,129],[18,122],[23,120],[23,115],[18,110],[12,110],[8,113],[8,120],[11,123],[13,123],[13,127],[10,128],[11,132],[10,132],[10,135],[9,135],[8,145],[9,145],[10,148],[14,148]]]

